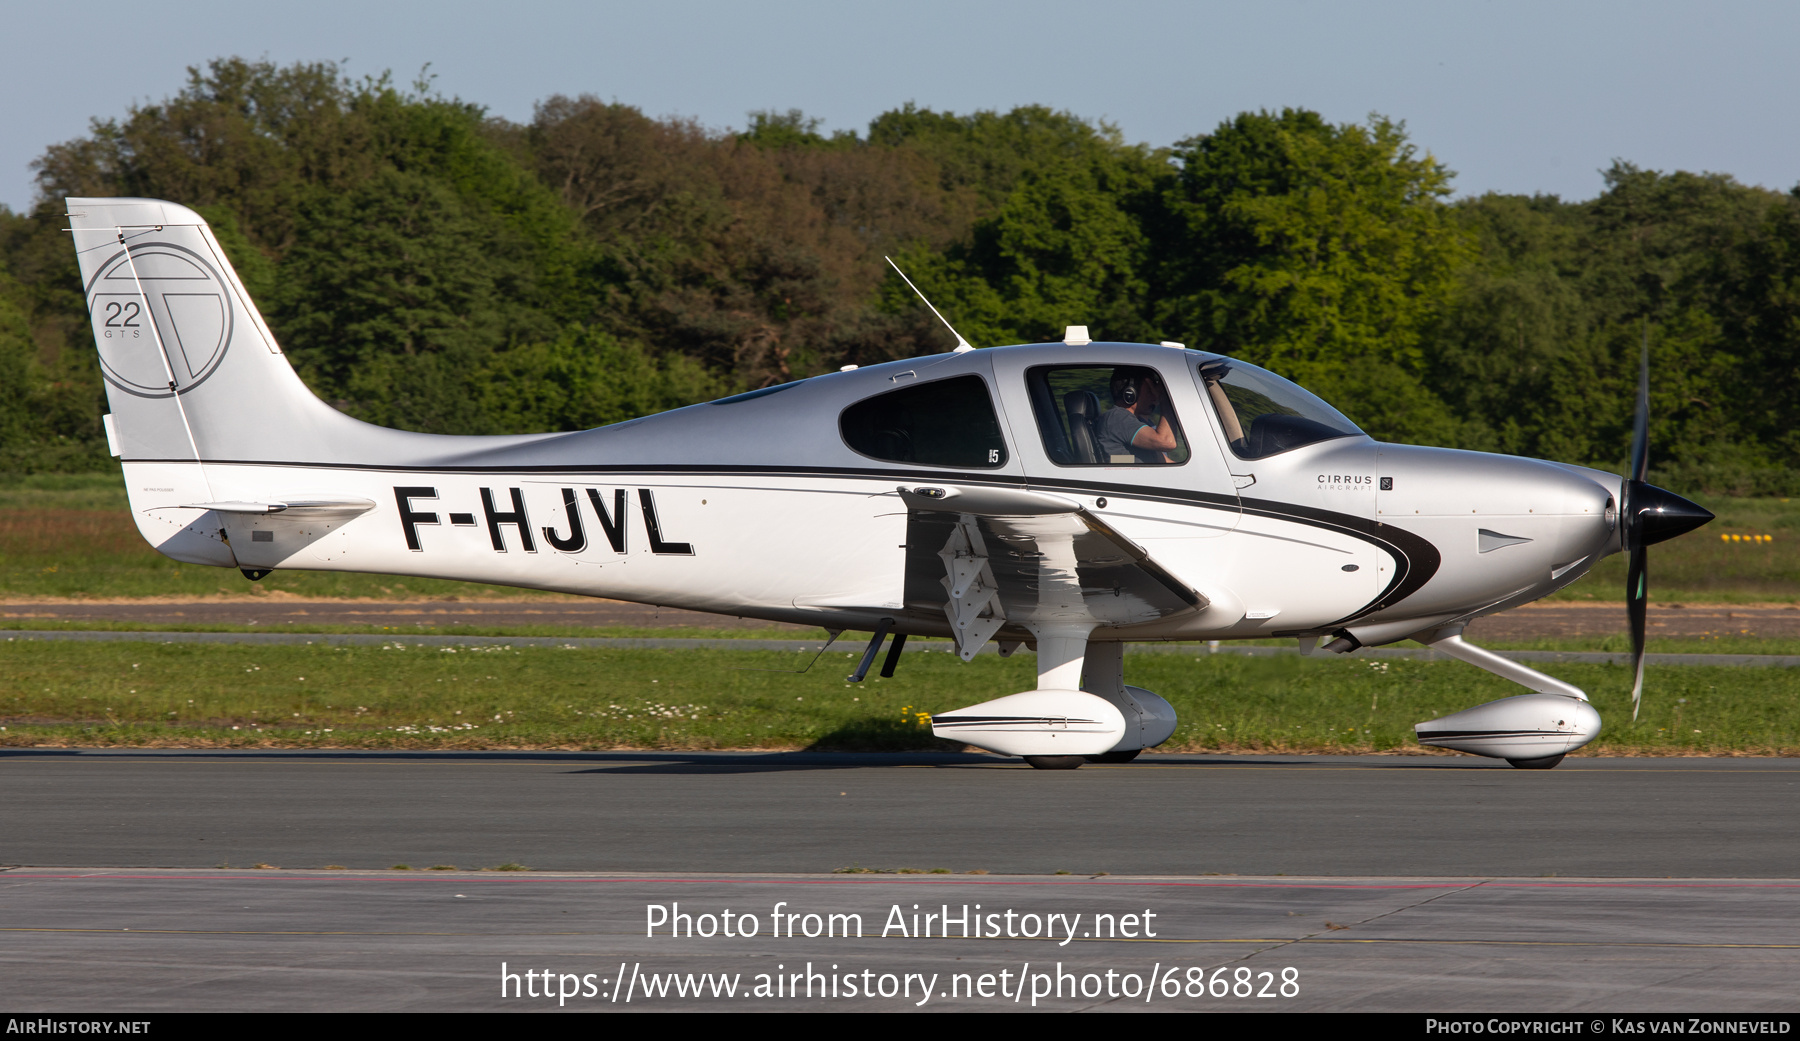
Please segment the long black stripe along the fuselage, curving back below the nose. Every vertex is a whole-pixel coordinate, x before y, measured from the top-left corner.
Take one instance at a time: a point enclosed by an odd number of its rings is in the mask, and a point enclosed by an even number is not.
[[[124,459],[126,463],[185,463],[194,459]],[[1186,492],[1181,488],[1147,488],[1143,484],[1114,484],[1105,481],[1075,481],[1069,477],[1026,479],[1017,475],[954,472],[954,470],[887,470],[875,466],[761,466],[761,465],[544,465],[544,466],[378,466],[373,463],[293,463],[279,459],[205,459],[207,466],[281,466],[295,470],[360,470],[373,474],[520,474],[520,475],[634,475],[634,477],[713,477],[713,475],[760,475],[760,477],[853,477],[887,481],[945,481],[956,484],[988,484],[997,488],[1021,488],[1039,492],[1087,492],[1094,495],[1121,495],[1150,502],[1174,502],[1177,506],[1199,506],[1226,513],[1249,513],[1289,520],[1309,528],[1323,528],[1370,542],[1386,549],[1393,557],[1393,578],[1366,605],[1352,611],[1327,627],[1339,627],[1357,618],[1366,618],[1377,611],[1395,607],[1431,580],[1438,573],[1444,557],[1427,539],[1404,528],[1368,520],[1350,513],[1334,513],[1294,502],[1276,502],[1273,499],[1244,499],[1240,495],[1219,495],[1213,492]],[[1310,630],[1309,630],[1310,632]],[[1301,630],[1280,630],[1273,636],[1298,636]]]

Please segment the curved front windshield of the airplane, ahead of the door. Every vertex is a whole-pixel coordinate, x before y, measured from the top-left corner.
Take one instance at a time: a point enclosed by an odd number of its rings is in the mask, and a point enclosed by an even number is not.
[[[1206,400],[1219,411],[1226,443],[1240,459],[1363,432],[1343,412],[1269,369],[1219,355],[1201,355],[1193,367]]]

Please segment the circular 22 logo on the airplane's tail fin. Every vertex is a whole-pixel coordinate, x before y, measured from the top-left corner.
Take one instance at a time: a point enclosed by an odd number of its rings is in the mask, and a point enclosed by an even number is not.
[[[205,382],[230,348],[225,279],[194,250],[142,243],[119,250],[88,285],[88,313],[106,382],[140,398],[167,398]],[[158,357],[158,342],[162,353]]]

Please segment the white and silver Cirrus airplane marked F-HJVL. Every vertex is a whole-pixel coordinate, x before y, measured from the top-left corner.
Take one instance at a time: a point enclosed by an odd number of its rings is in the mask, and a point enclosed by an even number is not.
[[[830,373],[574,434],[463,438],[353,420],[281,355],[191,209],[70,198],[139,531],[189,564],[495,582],[826,630],[1037,650],[1037,688],[932,717],[1031,765],[1123,762],[1175,713],[1125,641],[1417,639],[1526,686],[1418,742],[1552,767],[1586,695],[1462,639],[1712,519],[1633,472],[1384,445],[1298,385],[1181,344],[1060,344]],[[954,330],[952,330],[954,331]]]

